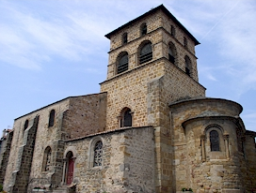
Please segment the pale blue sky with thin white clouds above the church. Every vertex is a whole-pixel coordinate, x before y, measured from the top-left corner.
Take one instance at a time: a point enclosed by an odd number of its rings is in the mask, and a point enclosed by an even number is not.
[[[206,96],[240,103],[256,131],[254,0],[0,0],[0,129],[62,98],[98,93],[104,35],[161,4],[200,41]]]

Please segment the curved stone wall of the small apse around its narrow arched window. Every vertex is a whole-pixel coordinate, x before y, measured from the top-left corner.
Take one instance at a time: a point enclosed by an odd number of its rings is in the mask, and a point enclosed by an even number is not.
[[[221,126],[223,134],[229,133],[228,149],[221,142],[220,152],[211,152],[210,141],[206,135],[205,144],[200,136],[205,133],[206,126]],[[206,119],[195,121],[185,127],[185,143],[183,156],[176,156],[177,190],[182,187],[191,187],[200,192],[223,192],[227,189],[233,192],[245,192],[246,176],[244,175],[245,161],[242,153],[237,149],[236,126],[228,119]],[[205,146],[206,159],[202,158],[202,145]],[[229,151],[229,154],[227,154]],[[181,154],[179,152],[177,154]],[[215,158],[211,156],[215,156]],[[180,160],[180,163],[178,162]],[[184,166],[182,166],[185,163]],[[183,172],[183,175],[181,175]],[[246,172],[245,172],[246,173]],[[184,178],[182,182],[182,178]]]

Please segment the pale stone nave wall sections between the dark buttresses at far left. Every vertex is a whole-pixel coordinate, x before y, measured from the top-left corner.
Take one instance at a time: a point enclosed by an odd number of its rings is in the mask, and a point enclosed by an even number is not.
[[[26,120],[29,121],[29,124],[33,122],[35,116],[40,116],[39,126],[36,136],[36,145],[34,148],[34,157],[37,157],[33,160],[31,166],[30,180],[33,178],[41,178],[41,166],[43,153],[47,146],[53,148],[53,141],[56,141],[59,136],[58,128],[61,126],[61,117],[63,111],[66,111],[69,107],[69,99],[64,99],[58,101],[50,106],[44,107],[38,111],[32,111],[24,116],[17,118],[14,121],[14,135],[11,144],[11,151],[8,159],[8,169],[5,176],[4,187],[7,189],[10,185],[11,173],[15,171],[15,165],[18,159],[19,147],[23,145],[24,141],[24,123]],[[54,126],[48,127],[49,123],[49,113],[51,110],[56,111],[56,119]]]

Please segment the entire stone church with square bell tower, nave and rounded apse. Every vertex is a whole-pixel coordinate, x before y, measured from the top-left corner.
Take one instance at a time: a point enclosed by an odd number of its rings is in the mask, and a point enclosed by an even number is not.
[[[193,37],[163,5],[105,35],[98,94],[14,121],[1,139],[10,193],[256,192],[256,132],[236,102],[205,97]]]

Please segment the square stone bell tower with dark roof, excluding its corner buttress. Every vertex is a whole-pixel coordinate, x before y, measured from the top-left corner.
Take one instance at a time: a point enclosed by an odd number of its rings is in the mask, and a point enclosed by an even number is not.
[[[110,39],[110,51],[101,92],[108,97],[107,119],[111,123],[107,129],[119,127],[117,117],[123,108],[132,110],[133,126],[156,123],[155,117],[153,121],[149,117],[152,109],[156,112],[150,105],[153,82],[161,82],[162,87],[155,87],[160,89],[159,102],[205,95],[195,55],[200,43],[163,5],[105,37]]]

